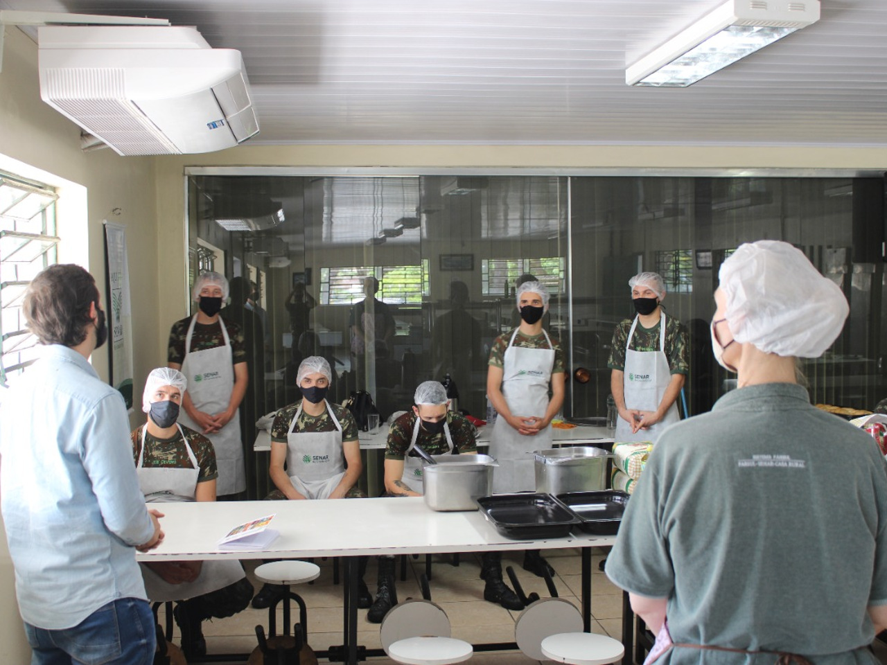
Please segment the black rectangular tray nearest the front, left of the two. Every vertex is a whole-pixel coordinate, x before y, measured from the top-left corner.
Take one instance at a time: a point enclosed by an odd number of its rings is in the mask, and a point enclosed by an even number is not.
[[[569,536],[578,518],[550,494],[496,494],[477,499],[483,516],[498,532],[515,540]]]

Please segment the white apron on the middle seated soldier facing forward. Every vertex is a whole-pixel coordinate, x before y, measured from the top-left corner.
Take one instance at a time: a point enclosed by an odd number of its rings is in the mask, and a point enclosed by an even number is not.
[[[310,499],[329,498],[345,475],[341,425],[326,400],[326,412],[335,424],[334,432],[294,432],[302,415],[302,404],[295,411],[287,432],[287,473],[295,491]]]

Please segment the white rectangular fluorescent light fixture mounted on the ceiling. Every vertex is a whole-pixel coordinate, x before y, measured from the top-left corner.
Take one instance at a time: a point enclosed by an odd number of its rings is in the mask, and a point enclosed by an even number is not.
[[[684,88],[820,20],[819,0],[729,0],[625,70],[625,82]]]

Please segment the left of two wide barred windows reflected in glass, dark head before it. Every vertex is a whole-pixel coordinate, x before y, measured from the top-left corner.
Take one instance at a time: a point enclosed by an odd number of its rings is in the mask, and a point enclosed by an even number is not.
[[[321,268],[320,304],[350,305],[364,300],[368,277],[379,280],[376,298],[389,305],[420,305],[431,293],[428,259],[419,265]]]

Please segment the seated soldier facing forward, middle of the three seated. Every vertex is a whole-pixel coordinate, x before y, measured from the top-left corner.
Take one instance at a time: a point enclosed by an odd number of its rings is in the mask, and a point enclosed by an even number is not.
[[[271,424],[271,481],[277,489],[269,499],[365,497],[357,487],[363,471],[357,423],[348,409],[326,401],[333,372],[326,358],[302,360],[296,381],[302,400],[281,409]],[[369,607],[373,597],[364,583],[366,557],[360,558],[357,606]],[[282,597],[285,586],[265,584],[253,606],[268,607]]]

